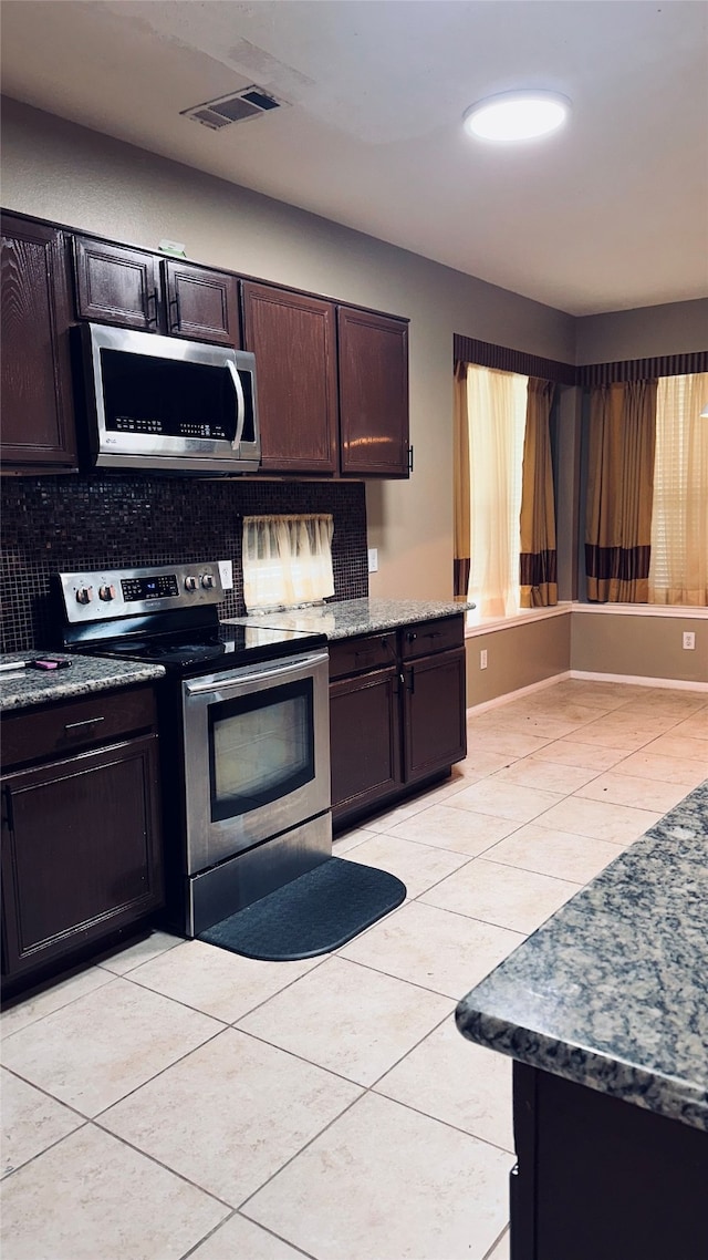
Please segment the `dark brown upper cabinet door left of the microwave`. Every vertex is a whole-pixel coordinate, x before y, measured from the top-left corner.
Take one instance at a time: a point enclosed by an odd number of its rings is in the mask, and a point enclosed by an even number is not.
[[[64,234],[3,217],[3,461],[76,467]]]

